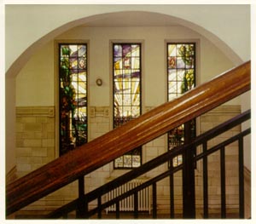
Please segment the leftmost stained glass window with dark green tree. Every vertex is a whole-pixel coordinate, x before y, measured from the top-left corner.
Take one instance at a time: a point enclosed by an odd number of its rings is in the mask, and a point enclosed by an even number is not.
[[[60,155],[87,142],[87,45],[59,44]]]

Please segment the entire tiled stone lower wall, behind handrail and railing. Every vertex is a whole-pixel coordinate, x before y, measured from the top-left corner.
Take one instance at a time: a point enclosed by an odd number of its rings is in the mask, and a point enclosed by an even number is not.
[[[149,107],[148,107],[149,108]],[[150,109],[150,108],[149,108]],[[148,110],[149,110],[148,109]],[[219,106],[212,112],[207,112],[199,119],[199,129],[203,133],[211,129],[218,123],[223,123],[229,118],[233,118],[240,113],[240,106]],[[26,175],[34,169],[49,163],[55,158],[55,108],[49,107],[18,107],[16,120],[16,169],[17,176]],[[109,107],[98,106],[89,107],[89,138],[90,140],[107,133],[111,129],[111,115]],[[222,141],[223,139],[236,135],[240,131],[240,126],[221,135],[209,146]],[[160,136],[154,141],[148,142],[143,146],[143,162],[155,158],[157,155],[166,152],[166,135]],[[198,149],[201,150],[201,149]],[[236,144],[231,144],[226,149],[226,192],[228,194],[227,204],[229,210],[236,210],[238,204],[238,167]],[[219,153],[214,153],[208,158],[208,175],[209,175],[209,204],[212,212],[218,210],[220,204],[220,178],[219,178]],[[152,177],[166,170],[167,165],[162,165],[157,169],[146,174],[145,177]],[[109,178],[124,173],[122,170],[113,170],[113,164],[106,164],[100,169],[85,176],[85,192],[90,192],[96,187],[104,184]],[[196,176],[196,196],[202,198],[202,164],[199,162],[195,169]],[[176,209],[182,208],[182,175],[179,172],[175,175],[175,200]],[[158,209],[159,212],[165,213],[170,210],[169,205],[169,180],[163,180],[158,183]],[[69,200],[76,198],[78,195],[77,182],[73,182],[67,187],[63,187],[57,192],[39,200],[26,207],[26,210],[52,210],[66,204]],[[201,210],[202,201],[197,200],[197,208]],[[93,206],[93,204],[92,204]],[[249,205],[248,205],[249,206]]]

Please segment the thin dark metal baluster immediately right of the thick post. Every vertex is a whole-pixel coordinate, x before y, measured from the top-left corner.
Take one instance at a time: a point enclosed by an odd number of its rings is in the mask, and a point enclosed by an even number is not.
[[[203,152],[207,152],[207,141],[203,143]],[[203,197],[204,197],[204,218],[209,217],[208,212],[208,158],[203,158]]]

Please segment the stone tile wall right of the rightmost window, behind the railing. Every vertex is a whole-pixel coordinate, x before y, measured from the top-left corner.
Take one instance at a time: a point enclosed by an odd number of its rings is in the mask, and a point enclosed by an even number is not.
[[[201,133],[206,132],[217,126],[224,121],[235,117],[237,114],[241,113],[240,106],[219,106],[218,108],[207,112],[201,116]],[[217,138],[208,142],[208,147],[217,145],[219,142],[230,138],[238,134],[241,131],[241,126],[236,126],[233,129],[225,132],[223,135],[218,135]],[[233,212],[238,208],[238,147],[237,143],[232,143],[225,147],[225,169],[226,169],[226,204],[227,211]],[[202,168],[198,170],[199,177],[202,175]],[[214,213],[219,208],[220,204],[220,153],[214,152],[210,157],[208,157],[208,178],[209,178],[209,206],[212,210],[210,212]],[[201,184],[202,182],[199,181]],[[201,185],[200,184],[200,185]],[[200,187],[198,185],[198,187]],[[201,187],[200,187],[201,188]]]

